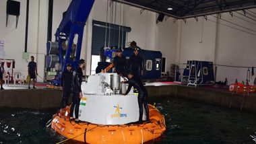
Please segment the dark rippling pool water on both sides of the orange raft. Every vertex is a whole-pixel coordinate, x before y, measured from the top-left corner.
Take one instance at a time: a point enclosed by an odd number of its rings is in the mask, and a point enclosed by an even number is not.
[[[152,99],[152,98],[151,98]],[[166,132],[148,143],[256,143],[256,114],[181,98],[150,100],[164,114]],[[57,110],[0,109],[1,143],[57,143],[46,128]],[[67,141],[67,143],[77,143]]]

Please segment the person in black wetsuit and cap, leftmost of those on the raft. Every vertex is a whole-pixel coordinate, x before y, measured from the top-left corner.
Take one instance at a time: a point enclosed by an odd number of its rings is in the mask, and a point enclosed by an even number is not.
[[[67,70],[61,75],[61,89],[63,90],[61,99],[61,108],[65,108],[69,104],[69,96],[71,94],[73,71],[71,64],[67,64]]]

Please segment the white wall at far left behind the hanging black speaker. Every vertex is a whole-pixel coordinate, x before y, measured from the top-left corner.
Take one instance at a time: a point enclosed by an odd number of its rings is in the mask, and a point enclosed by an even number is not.
[[[25,26],[26,26],[26,1],[20,0],[21,9],[18,27],[16,17],[9,16],[8,25],[5,27],[6,20],[6,1],[0,1],[0,40],[4,40],[5,55],[0,55],[1,59],[15,59],[15,69],[27,71],[26,61],[22,60],[22,52],[25,47]],[[32,46],[33,42],[29,44]],[[25,69],[24,69],[25,67]]]

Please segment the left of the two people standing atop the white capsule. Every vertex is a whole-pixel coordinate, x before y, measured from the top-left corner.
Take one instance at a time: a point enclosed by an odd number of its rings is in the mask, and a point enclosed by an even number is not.
[[[114,65],[117,74],[127,77],[127,63],[125,57],[122,55],[122,50],[117,50],[117,56],[114,58]]]

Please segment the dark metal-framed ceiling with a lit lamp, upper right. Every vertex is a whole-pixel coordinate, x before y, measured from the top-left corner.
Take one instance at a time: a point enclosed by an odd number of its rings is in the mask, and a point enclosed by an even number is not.
[[[177,19],[256,7],[255,0],[113,0]],[[168,7],[172,10],[169,11]]]

